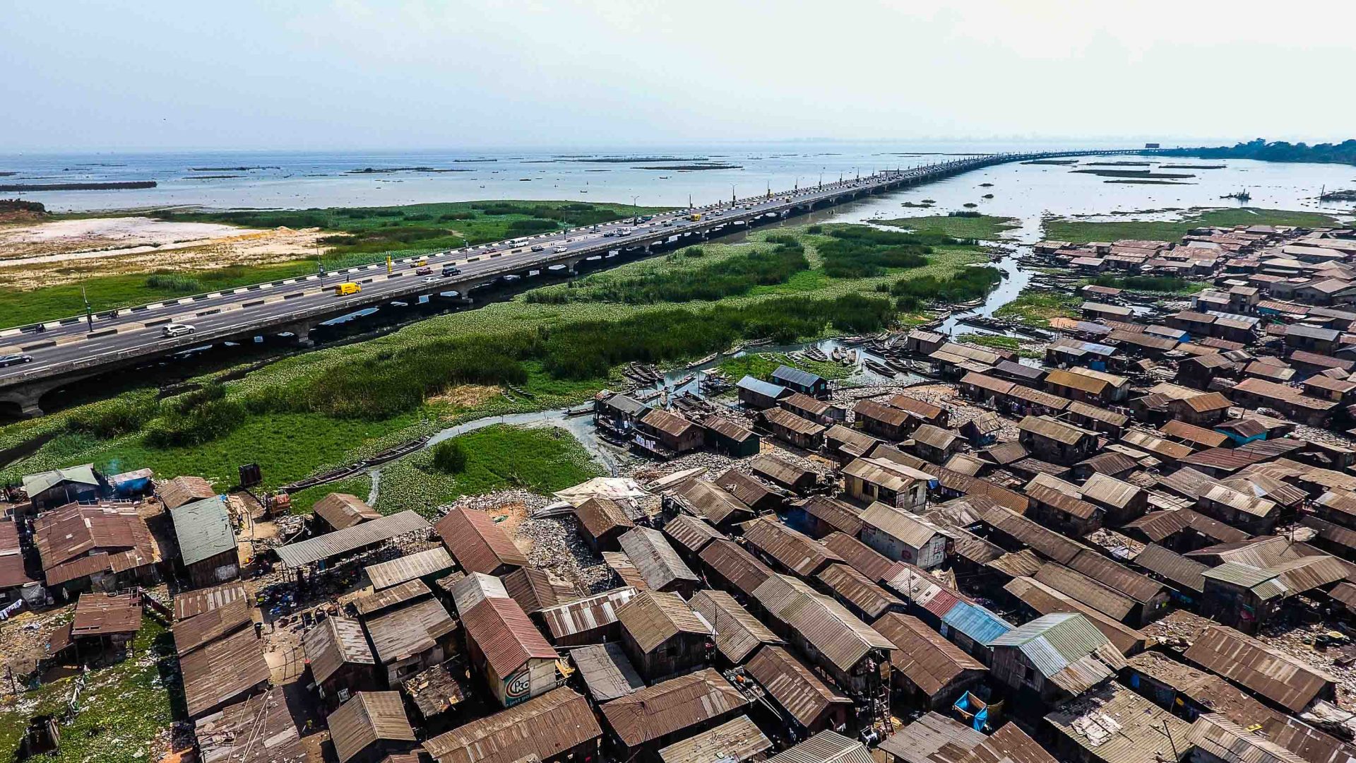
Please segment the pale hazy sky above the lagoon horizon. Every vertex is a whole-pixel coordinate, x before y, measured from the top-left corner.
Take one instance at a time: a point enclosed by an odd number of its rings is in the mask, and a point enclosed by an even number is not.
[[[1351,0],[0,0],[0,153],[1356,137]]]

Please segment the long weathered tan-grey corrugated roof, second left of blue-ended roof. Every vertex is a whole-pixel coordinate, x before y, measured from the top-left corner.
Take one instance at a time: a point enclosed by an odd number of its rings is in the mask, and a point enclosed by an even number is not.
[[[848,671],[872,649],[894,649],[885,637],[842,604],[804,581],[774,574],[754,591],[758,603],[812,644],[834,667]]]

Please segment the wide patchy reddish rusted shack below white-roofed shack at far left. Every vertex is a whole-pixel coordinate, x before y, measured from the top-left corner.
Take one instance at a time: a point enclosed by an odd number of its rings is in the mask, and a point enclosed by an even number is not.
[[[71,504],[33,521],[49,589],[117,591],[155,582],[155,542],[132,504]]]

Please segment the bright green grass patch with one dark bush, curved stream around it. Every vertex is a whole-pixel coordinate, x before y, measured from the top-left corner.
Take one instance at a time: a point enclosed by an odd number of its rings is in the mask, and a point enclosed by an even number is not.
[[[526,487],[549,494],[602,475],[602,468],[564,429],[494,425],[456,437],[465,449],[466,468],[446,474],[423,449],[381,470],[377,509],[382,513],[414,509],[434,516],[434,508],[464,496],[504,487]]]

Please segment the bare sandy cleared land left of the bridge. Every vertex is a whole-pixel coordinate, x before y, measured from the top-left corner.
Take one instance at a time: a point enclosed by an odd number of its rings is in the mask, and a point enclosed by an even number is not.
[[[91,276],[290,262],[315,255],[316,239],[321,235],[316,228],[260,231],[149,217],[52,220],[3,227],[0,285],[33,289]]]

